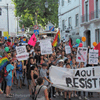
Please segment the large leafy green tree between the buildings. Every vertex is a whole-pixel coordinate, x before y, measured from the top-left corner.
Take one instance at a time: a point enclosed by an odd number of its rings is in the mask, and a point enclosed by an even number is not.
[[[15,15],[19,16],[20,25],[25,27],[37,23],[45,26],[48,22],[58,26],[58,0],[48,0],[48,8],[45,8],[46,0],[13,0]]]

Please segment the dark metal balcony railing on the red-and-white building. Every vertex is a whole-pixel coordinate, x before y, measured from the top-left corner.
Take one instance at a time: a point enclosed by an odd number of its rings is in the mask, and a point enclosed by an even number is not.
[[[89,22],[91,20],[100,18],[100,10],[93,11],[90,14],[85,14],[81,16],[81,23]]]

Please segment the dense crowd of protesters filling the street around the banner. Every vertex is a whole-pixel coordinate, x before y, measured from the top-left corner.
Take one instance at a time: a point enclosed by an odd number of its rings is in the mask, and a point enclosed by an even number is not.
[[[39,38],[40,39],[40,38]],[[63,96],[64,100],[71,100],[71,98],[78,97],[80,100],[84,98],[89,100],[93,97],[93,92],[85,91],[65,91],[56,87],[53,87],[53,83],[49,79],[49,68],[54,65],[57,67],[64,67],[69,69],[78,69],[85,67],[92,67],[100,65],[100,57],[98,58],[98,65],[89,65],[88,62],[77,62],[77,48],[71,48],[71,54],[65,53],[65,45],[68,45],[68,41],[61,41],[56,47],[52,47],[52,54],[41,55],[40,43],[36,42],[35,47],[26,44],[29,58],[24,61],[18,61],[16,58],[16,47],[22,46],[28,42],[26,37],[10,37],[5,40],[4,37],[0,38],[0,59],[7,57],[9,63],[6,66],[8,75],[3,77],[1,81],[0,93],[6,94],[7,98],[13,97],[11,94],[12,85],[16,85],[16,88],[22,89],[22,86],[27,86],[29,89],[30,97],[36,98],[36,100],[51,100],[51,94],[54,98],[57,96]],[[9,51],[5,51],[5,47],[9,47]],[[88,47],[88,53],[89,49]],[[87,55],[88,56],[88,55]],[[4,68],[0,73],[3,73]],[[27,79],[27,84],[25,84]],[[49,85],[51,84],[51,87]],[[99,94],[98,94],[99,96]]]

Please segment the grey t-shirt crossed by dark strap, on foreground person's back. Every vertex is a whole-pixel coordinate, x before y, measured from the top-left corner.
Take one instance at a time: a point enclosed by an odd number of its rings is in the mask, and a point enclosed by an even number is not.
[[[36,92],[37,92],[37,93],[38,93],[40,87],[41,87],[41,86],[39,86],[39,85],[36,87]],[[46,99],[45,99],[45,94],[44,94],[44,90],[45,90],[45,89],[47,89],[47,87],[46,87],[46,86],[42,86],[42,88],[41,88],[39,94],[37,95],[37,99],[36,99],[36,100],[46,100]]]

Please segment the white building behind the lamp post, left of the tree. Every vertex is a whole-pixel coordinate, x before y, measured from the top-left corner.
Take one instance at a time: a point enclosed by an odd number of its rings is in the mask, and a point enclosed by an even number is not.
[[[3,36],[3,32],[7,32],[8,30],[9,35],[17,33],[17,20],[14,15],[14,4],[12,4],[12,0],[0,0],[0,36]]]

